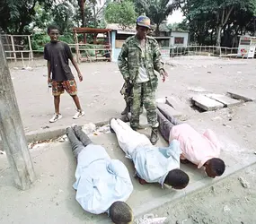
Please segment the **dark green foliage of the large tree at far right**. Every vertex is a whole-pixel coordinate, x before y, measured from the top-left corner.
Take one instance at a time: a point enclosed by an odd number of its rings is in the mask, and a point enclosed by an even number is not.
[[[215,37],[216,46],[220,46],[222,34],[230,36],[239,27],[244,29],[252,22],[255,1],[186,0],[181,9],[190,24],[192,38],[204,43],[209,37],[213,42]]]

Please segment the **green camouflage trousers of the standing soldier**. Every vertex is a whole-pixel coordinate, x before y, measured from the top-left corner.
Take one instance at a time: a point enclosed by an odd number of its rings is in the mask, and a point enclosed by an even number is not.
[[[141,102],[146,108],[146,118],[149,125],[158,127],[155,91],[152,90],[150,82],[135,83],[132,90],[131,118],[130,125],[133,129],[139,126],[139,115]]]

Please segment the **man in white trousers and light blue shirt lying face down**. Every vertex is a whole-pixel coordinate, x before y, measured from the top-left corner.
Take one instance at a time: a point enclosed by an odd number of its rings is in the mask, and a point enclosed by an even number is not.
[[[119,119],[110,120],[110,129],[117,135],[120,148],[132,159],[140,184],[159,183],[174,189],[185,188],[189,176],[180,168],[180,143],[173,141],[169,147],[154,147],[145,134],[139,134]]]

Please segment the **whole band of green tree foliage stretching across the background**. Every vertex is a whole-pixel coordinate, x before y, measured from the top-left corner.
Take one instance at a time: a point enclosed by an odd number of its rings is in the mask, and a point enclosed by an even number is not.
[[[10,34],[36,34],[45,41],[46,28],[57,24],[68,41],[73,27],[104,28],[105,20],[123,29],[142,13],[159,27],[178,7],[186,19],[169,26],[190,30],[190,40],[203,45],[237,46],[239,35],[256,35],[256,0],[0,0],[0,29]],[[82,16],[83,14],[83,16]],[[38,43],[38,45],[37,45]],[[41,46],[40,40],[35,46]]]

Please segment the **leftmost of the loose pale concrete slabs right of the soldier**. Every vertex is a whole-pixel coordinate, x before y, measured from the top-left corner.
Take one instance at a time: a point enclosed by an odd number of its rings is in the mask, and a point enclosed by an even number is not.
[[[215,99],[209,99],[204,95],[195,96],[192,98],[192,101],[194,101],[196,106],[206,111],[224,108],[224,104],[217,102]]]

